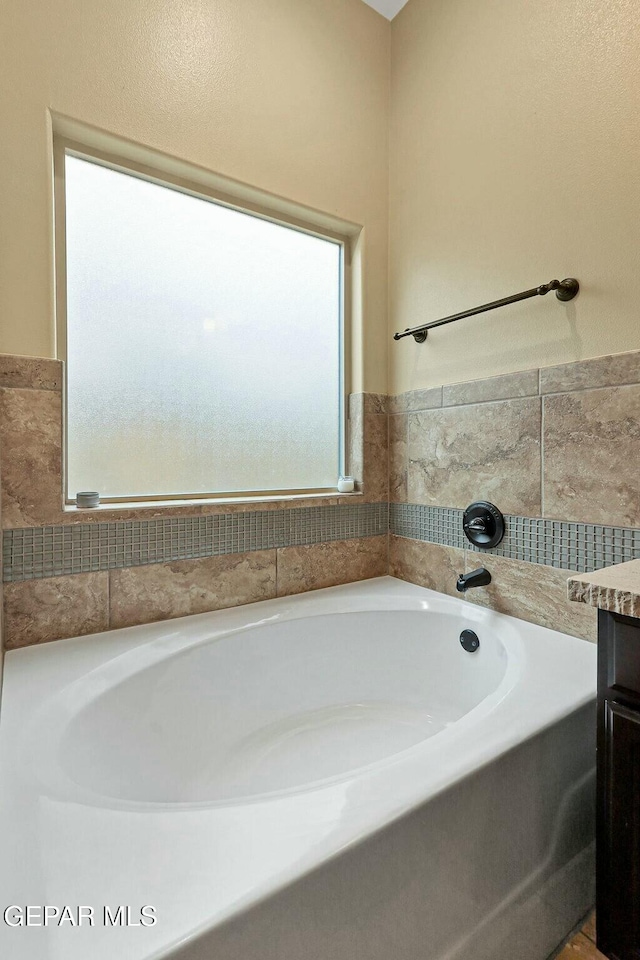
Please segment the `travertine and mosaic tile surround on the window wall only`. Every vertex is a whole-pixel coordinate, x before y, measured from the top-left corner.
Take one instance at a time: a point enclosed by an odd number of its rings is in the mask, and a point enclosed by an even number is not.
[[[349,436],[357,461],[349,472],[360,491],[354,498],[265,497],[75,511],[62,507],[62,385],[58,361],[0,356],[8,646],[275,595],[278,549],[311,557],[308,545],[331,543],[324,563],[334,568],[333,582],[345,582],[382,571],[384,545],[386,572],[385,395],[350,398]],[[361,543],[369,539],[377,539],[375,549]],[[264,556],[271,559],[263,568]],[[282,569],[297,590],[295,571],[287,566],[292,558],[293,553],[283,555]],[[315,573],[305,569],[298,574],[319,585],[319,567]]]

